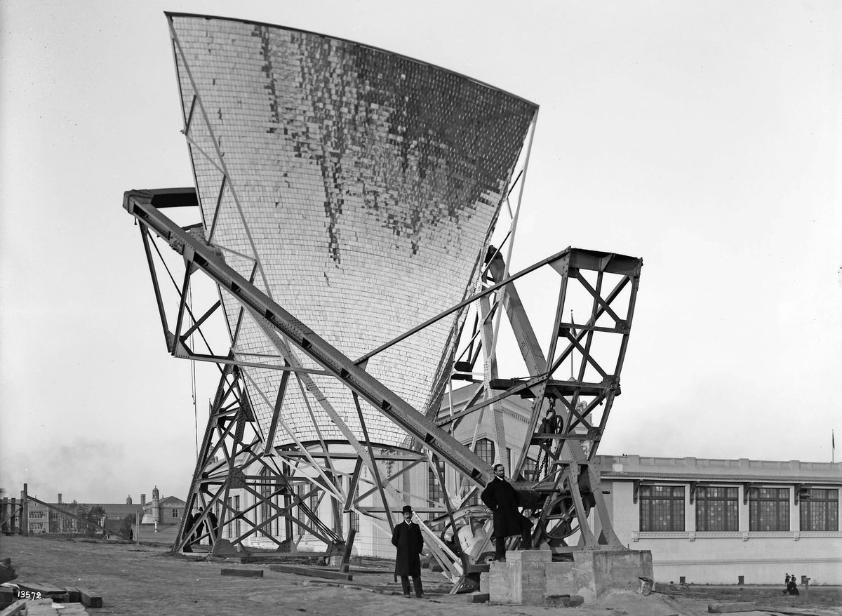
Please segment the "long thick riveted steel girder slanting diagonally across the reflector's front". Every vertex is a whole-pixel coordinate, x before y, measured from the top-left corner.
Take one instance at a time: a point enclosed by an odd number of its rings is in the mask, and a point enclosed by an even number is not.
[[[364,368],[319,337],[290,312],[285,311],[248,279],[227,265],[214,247],[200,242],[163,215],[152,204],[152,194],[138,190],[127,191],[123,207],[141,224],[169,242],[170,247],[186,261],[204,271],[216,284],[220,284],[234,295],[242,305],[263,316],[290,343],[300,348],[350,390],[355,391],[378,412],[424,443],[425,447],[448,460],[462,475],[479,486],[485,486],[490,481],[493,476],[491,465],[437,427],[432,419],[418,412],[401,396],[397,396]]]

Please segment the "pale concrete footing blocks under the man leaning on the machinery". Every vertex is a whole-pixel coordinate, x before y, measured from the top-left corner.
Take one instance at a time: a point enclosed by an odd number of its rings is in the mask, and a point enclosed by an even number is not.
[[[480,578],[495,603],[545,605],[546,597],[562,595],[590,601],[610,589],[637,590],[641,576],[652,577],[648,550],[582,550],[572,562],[552,562],[548,550],[511,551],[506,560],[491,563],[487,582]]]

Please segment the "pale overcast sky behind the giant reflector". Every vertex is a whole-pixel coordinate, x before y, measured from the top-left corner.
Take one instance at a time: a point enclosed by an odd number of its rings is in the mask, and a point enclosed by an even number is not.
[[[842,4],[4,0],[6,496],[189,487],[190,365],[121,207],[192,184],[165,10],[356,40],[539,104],[512,269],[569,245],[644,261],[600,454],[830,461]],[[200,431],[215,383],[202,366]]]

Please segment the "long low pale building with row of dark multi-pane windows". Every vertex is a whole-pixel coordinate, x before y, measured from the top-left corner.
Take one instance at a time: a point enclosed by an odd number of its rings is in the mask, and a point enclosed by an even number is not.
[[[658,581],[842,583],[842,464],[597,456],[614,531]]]

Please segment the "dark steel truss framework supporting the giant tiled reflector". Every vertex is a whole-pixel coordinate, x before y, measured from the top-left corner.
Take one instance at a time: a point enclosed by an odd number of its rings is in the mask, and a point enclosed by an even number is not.
[[[284,540],[279,535],[290,540],[294,527],[328,546],[338,547],[346,536],[342,512],[357,512],[384,530],[392,528],[390,512],[411,497],[423,496],[409,494],[402,488],[403,475],[419,465],[432,471],[445,497],[432,507],[416,507],[416,510],[440,514],[440,523],[450,528],[464,527],[465,516],[477,513],[477,507],[466,503],[490,480],[492,471],[488,461],[473,452],[476,433],[468,446],[456,440],[453,433],[465,422],[482,422],[482,415],[488,409],[493,413],[497,450],[505,451],[509,441],[502,404],[511,396],[532,400],[529,416],[522,417],[525,441],[510,474],[520,480],[515,484],[521,500],[536,520],[536,544],[545,544],[556,552],[622,548],[611,528],[599,473],[589,462],[599,447],[614,399],[620,394],[619,377],[632,324],[641,259],[567,248],[508,275],[501,252],[491,250],[476,293],[354,361],[258,289],[254,283],[257,263],[251,279],[244,278],[226,265],[221,252],[205,242],[204,235],[197,232],[198,226],[182,228],[162,212],[168,207],[196,204],[192,189],[128,191],[124,199],[125,209],[140,223],[168,351],[180,358],[213,362],[221,371],[187,502],[186,510],[198,511],[198,516],[185,516],[173,550],[188,549],[204,539],[218,545],[223,535],[233,544],[242,544],[254,534],[264,535],[284,550]],[[155,236],[163,238],[183,258],[180,282],[158,249]],[[514,281],[547,266],[557,273],[559,286],[552,336],[545,354]],[[221,302],[211,303],[204,311],[195,311],[189,290],[197,271],[204,272],[219,288],[237,299],[241,321],[246,312],[258,321],[264,335],[277,349],[276,356],[251,363],[236,358],[227,349],[226,353],[213,352],[202,327],[209,327],[211,317],[221,318]],[[163,292],[168,286],[175,291],[174,311],[167,305],[167,294]],[[584,320],[580,317],[582,322],[578,323],[565,318],[574,296],[584,298],[588,305],[587,317]],[[471,306],[473,327],[467,335],[462,328],[468,322],[466,309]],[[579,314],[583,313],[581,307],[578,310]],[[426,417],[371,377],[365,371],[366,360],[457,311],[464,311],[458,332],[462,346],[452,364],[452,379],[479,386],[460,412],[442,409],[438,416]],[[501,379],[497,374],[494,348],[503,312],[508,316],[525,364],[526,375],[521,378]],[[199,352],[190,343],[197,337],[207,348],[206,352]],[[615,342],[606,345],[602,342],[605,338]],[[236,339],[237,331],[232,332],[232,348]],[[320,369],[304,368],[301,355],[311,358]],[[574,358],[578,358],[578,366]],[[251,412],[250,396],[265,395],[250,382],[250,366],[282,372],[280,388],[274,400],[269,401],[274,415],[268,430],[261,430]],[[568,366],[570,378],[557,379],[555,375]],[[331,375],[351,392],[363,439],[356,438],[333,410],[330,401],[313,383],[311,374]],[[284,396],[289,387],[306,390],[308,399],[328,413],[347,441],[329,442],[322,438],[317,425],[317,442],[299,441],[283,418]],[[412,446],[383,448],[370,442],[361,406],[364,404],[412,435]],[[310,414],[316,423],[312,411]],[[293,444],[274,446],[274,433],[279,427],[285,429]],[[530,461],[534,468],[527,470]],[[401,463],[397,469],[395,462]],[[456,490],[449,477],[456,477]],[[232,491],[237,490],[252,497],[253,504],[240,510],[232,503]],[[324,497],[331,502],[330,524],[322,522],[317,514]],[[592,510],[599,518],[599,535],[594,516],[589,515]],[[218,516],[216,523],[212,523],[211,512]],[[472,540],[467,544],[455,538],[448,540],[422,520],[418,522],[445,576],[454,582],[455,589],[460,587],[471,571],[469,566],[486,553],[490,519],[485,519],[479,528],[471,526]],[[276,532],[272,532],[273,523],[279,527]],[[513,544],[516,542],[513,540]]]

